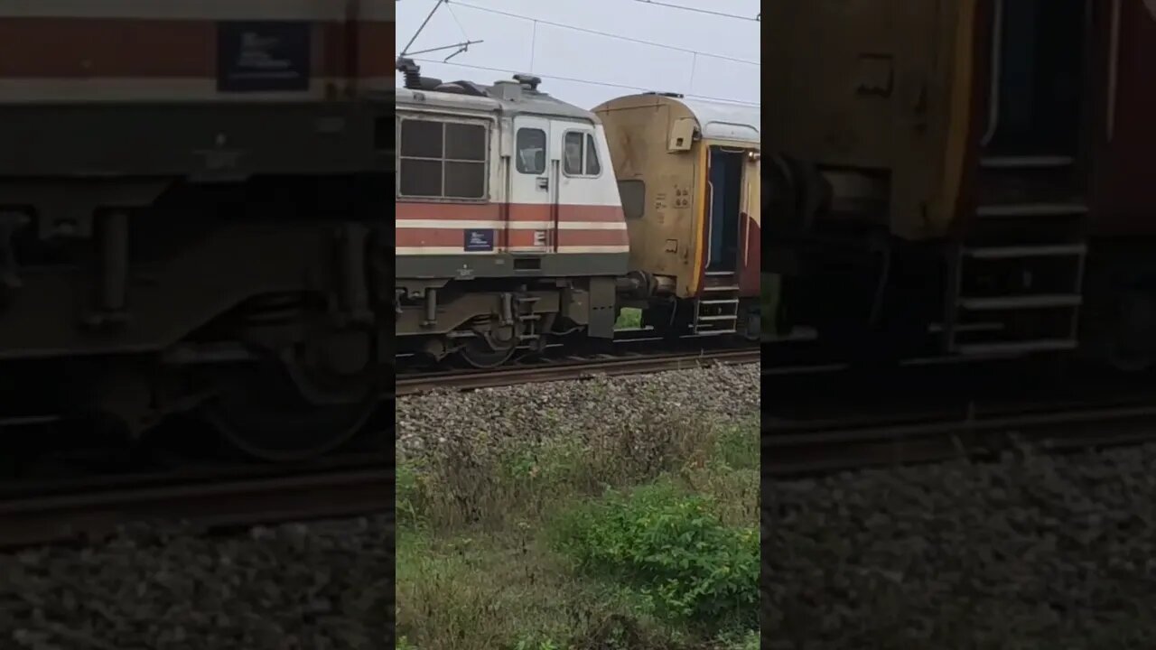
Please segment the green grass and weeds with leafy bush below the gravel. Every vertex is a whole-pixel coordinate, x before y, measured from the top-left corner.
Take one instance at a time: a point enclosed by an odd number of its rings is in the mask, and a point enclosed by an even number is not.
[[[672,414],[399,458],[397,647],[757,648],[757,445]]]

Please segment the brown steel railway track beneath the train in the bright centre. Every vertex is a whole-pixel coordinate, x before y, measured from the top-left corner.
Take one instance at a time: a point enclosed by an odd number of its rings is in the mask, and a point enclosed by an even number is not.
[[[514,384],[583,379],[596,375],[639,375],[684,370],[705,363],[755,363],[759,361],[759,357],[758,348],[564,357],[550,362],[511,365],[495,370],[399,375],[394,387],[395,394],[401,397],[436,389],[476,390]]]

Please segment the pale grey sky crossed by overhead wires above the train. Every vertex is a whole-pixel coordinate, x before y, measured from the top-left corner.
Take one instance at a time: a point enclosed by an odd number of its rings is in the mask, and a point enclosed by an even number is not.
[[[425,20],[435,1],[400,0],[397,3],[399,51]],[[750,17],[759,10],[759,0],[661,1]],[[535,27],[532,21],[492,10],[661,43],[701,54],[541,22]],[[414,58],[418,59],[422,74],[446,81],[466,79],[492,83],[498,79],[509,79],[511,73],[506,71],[531,72],[542,77],[542,90],[586,109],[613,97],[644,90],[758,104],[761,71],[757,65],[707,56],[758,61],[759,23],[754,21],[638,0],[451,0],[438,8],[409,51],[467,39],[484,43],[472,45],[467,52],[453,57],[449,65],[429,61],[442,61],[453,52],[452,49],[416,54]],[[401,84],[400,75],[398,84]]]

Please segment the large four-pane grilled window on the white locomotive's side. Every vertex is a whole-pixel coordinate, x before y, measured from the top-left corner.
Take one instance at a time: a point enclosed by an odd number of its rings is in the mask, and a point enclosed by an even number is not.
[[[487,143],[481,124],[402,119],[398,194],[484,199]]]

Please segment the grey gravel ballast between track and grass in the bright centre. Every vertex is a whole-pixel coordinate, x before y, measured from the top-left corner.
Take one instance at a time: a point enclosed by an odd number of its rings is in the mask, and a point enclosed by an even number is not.
[[[645,428],[688,414],[711,422],[758,412],[759,365],[711,367],[622,377],[521,384],[398,399],[398,451],[420,453],[452,436],[538,438],[607,426]]]

